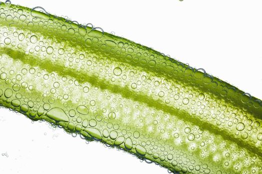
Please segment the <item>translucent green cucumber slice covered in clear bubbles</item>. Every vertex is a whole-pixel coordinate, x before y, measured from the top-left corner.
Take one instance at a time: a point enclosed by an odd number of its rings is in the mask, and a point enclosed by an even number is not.
[[[148,47],[36,10],[0,4],[1,105],[174,173],[262,173],[261,100]]]

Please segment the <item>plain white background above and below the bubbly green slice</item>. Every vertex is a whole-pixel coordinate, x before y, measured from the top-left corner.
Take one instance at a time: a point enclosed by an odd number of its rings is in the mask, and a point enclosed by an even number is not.
[[[114,31],[262,99],[261,0],[12,0]],[[46,135],[45,135],[46,134]],[[2,156],[3,153],[3,156]],[[7,156],[4,155],[7,154]],[[0,174],[168,174],[0,109]]]

